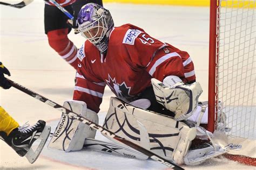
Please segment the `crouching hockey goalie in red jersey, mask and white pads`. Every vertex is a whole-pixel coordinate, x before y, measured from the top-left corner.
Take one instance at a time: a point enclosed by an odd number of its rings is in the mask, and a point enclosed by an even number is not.
[[[103,126],[118,136],[177,164],[198,165],[226,152],[201,126],[207,125],[207,103],[198,102],[203,90],[187,52],[137,26],[114,27],[110,11],[94,3],[80,10],[78,25],[87,40],[78,51],[73,100],[65,107],[98,123],[107,85],[116,97]],[[63,114],[49,146],[78,151],[95,133]]]

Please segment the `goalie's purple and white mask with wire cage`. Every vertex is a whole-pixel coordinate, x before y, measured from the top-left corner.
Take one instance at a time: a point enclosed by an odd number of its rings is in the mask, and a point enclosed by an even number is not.
[[[109,33],[114,26],[110,12],[98,4],[89,3],[82,7],[77,20],[82,36],[101,53],[106,53]]]

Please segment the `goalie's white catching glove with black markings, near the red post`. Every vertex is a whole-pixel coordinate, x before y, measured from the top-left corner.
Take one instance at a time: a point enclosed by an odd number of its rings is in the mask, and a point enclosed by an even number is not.
[[[172,79],[173,77],[177,78],[177,76],[166,77],[167,79],[171,78],[172,82],[175,83],[173,86],[170,85],[172,83],[163,83],[157,79],[151,79],[151,82],[157,102],[172,111],[176,121],[181,121],[190,117],[193,111],[197,109],[198,97],[203,90],[198,82],[185,84],[176,82]]]

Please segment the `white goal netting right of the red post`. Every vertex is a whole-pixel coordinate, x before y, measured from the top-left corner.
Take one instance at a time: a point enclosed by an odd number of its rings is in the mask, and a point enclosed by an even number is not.
[[[217,87],[228,135],[256,138],[256,3],[221,1],[218,10]]]

